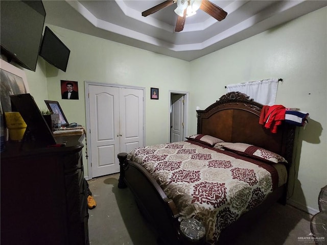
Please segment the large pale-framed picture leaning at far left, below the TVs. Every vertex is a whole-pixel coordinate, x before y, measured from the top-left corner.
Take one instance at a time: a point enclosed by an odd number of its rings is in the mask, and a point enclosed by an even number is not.
[[[11,111],[10,95],[29,93],[29,85],[24,70],[0,59],[0,91],[3,112]]]

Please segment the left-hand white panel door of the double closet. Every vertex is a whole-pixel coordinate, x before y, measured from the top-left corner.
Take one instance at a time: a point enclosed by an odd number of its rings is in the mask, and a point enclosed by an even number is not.
[[[92,178],[119,172],[119,88],[89,86]]]

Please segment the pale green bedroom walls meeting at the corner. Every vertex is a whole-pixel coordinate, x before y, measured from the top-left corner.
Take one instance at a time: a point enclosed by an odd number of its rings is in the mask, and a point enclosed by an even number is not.
[[[67,119],[82,125],[84,81],[145,87],[146,144],[167,142],[169,90],[190,92],[189,134],[193,134],[196,107],[204,109],[218,100],[226,93],[225,85],[283,78],[276,104],[310,113],[309,125],[297,135],[289,202],[315,213],[320,188],[327,184],[326,16],[327,8],[317,10],[192,62],[50,26],[71,49],[67,71],[39,57],[36,72],[26,73],[40,107],[45,99],[59,101]],[[78,81],[80,100],[61,100],[60,80]],[[149,99],[150,87],[159,88],[159,100]],[[86,159],[84,165],[87,175]]]

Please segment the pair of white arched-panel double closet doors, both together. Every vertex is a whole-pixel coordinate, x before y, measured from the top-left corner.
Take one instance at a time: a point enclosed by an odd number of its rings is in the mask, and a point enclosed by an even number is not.
[[[91,177],[119,173],[117,155],[144,146],[143,90],[89,85]]]

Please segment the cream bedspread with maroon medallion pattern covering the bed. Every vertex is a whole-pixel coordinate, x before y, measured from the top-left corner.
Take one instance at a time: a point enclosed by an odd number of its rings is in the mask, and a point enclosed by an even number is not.
[[[146,146],[128,154],[151,173],[182,217],[204,224],[207,244],[215,244],[225,227],[273,189],[272,174],[265,167],[235,156],[186,141]]]

